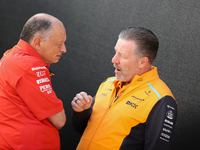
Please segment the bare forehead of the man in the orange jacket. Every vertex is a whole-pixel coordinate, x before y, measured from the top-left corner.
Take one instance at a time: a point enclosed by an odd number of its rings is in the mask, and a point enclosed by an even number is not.
[[[135,46],[136,44],[134,41],[119,38],[115,45],[115,50],[119,53],[130,53]]]

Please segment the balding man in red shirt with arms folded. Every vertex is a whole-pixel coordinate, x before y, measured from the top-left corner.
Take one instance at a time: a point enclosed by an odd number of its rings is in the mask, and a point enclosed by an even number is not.
[[[66,53],[65,27],[40,13],[31,17],[16,46],[0,60],[0,149],[60,149],[66,122],[52,89],[49,64]]]

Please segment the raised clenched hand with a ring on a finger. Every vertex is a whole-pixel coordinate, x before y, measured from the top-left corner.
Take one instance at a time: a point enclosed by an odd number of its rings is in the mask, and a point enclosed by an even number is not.
[[[85,92],[80,92],[76,94],[76,97],[71,102],[72,108],[76,112],[84,111],[90,108],[92,104],[92,96]]]

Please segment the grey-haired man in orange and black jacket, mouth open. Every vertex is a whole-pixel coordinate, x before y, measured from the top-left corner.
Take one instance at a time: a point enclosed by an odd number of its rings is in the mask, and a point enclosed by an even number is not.
[[[77,150],[170,150],[177,103],[152,66],[159,42],[145,28],[119,34],[112,63],[92,100],[85,92],[71,102],[73,125],[82,134]]]

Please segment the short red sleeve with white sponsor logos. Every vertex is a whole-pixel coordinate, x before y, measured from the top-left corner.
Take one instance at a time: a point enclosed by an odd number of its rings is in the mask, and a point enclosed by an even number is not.
[[[24,109],[43,120],[63,110],[63,103],[52,89],[49,70],[32,67],[24,71],[16,90],[25,103]]]

